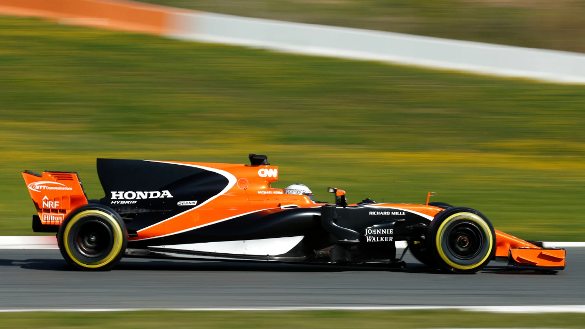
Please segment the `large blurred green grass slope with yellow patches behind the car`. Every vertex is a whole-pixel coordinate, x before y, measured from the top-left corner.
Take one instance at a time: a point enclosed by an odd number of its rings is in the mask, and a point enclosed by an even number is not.
[[[20,171],[95,158],[247,163],[350,202],[474,207],[526,239],[585,239],[585,87],[0,17],[0,234],[31,234]]]

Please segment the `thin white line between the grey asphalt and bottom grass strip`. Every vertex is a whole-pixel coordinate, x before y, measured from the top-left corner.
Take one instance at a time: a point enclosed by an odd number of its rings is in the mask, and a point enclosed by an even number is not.
[[[585,305],[548,306],[346,306],[346,307],[221,307],[221,308],[127,308],[127,309],[0,309],[10,312],[125,312],[125,311],[405,311],[461,310],[490,313],[585,313]]]

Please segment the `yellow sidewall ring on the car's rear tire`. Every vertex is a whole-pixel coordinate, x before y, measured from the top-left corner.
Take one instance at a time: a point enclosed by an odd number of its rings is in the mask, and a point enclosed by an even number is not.
[[[75,258],[75,255],[73,254],[73,252],[71,252],[71,248],[69,245],[69,232],[71,231],[71,227],[73,227],[73,225],[75,223],[77,223],[77,221],[79,221],[80,219],[82,219],[83,217],[86,216],[95,216],[95,217],[99,217],[101,219],[104,219],[106,221],[108,221],[108,223],[111,224],[112,226],[112,235],[113,235],[113,247],[112,247],[112,251],[110,251],[110,253],[104,257],[103,259],[91,263],[91,264],[86,264],[85,262],[81,262],[79,259]],[[67,252],[67,255],[69,255],[69,257],[71,259],[73,259],[73,261],[80,265],[83,266],[85,268],[99,268],[102,266],[105,266],[107,264],[109,264],[109,262],[113,261],[113,259],[116,259],[116,257],[118,257],[118,255],[120,254],[120,252],[122,251],[122,244],[123,244],[123,233],[122,233],[122,228],[120,227],[120,224],[118,224],[118,221],[116,221],[116,219],[114,219],[110,214],[105,213],[101,210],[84,210],[78,214],[76,214],[70,221],[69,223],[67,223],[67,227],[65,228],[65,232],[63,233],[63,245],[65,247],[65,251]]]

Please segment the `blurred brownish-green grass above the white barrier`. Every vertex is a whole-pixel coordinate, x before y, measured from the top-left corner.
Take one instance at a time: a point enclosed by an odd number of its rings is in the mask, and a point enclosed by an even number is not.
[[[584,0],[142,0],[198,11],[585,52]]]

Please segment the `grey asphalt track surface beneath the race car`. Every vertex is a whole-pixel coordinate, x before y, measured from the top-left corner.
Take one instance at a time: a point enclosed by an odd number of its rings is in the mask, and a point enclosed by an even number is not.
[[[0,310],[585,304],[585,248],[556,274],[492,262],[475,275],[246,262],[122,259],[109,272],[73,271],[58,250],[0,250]]]

